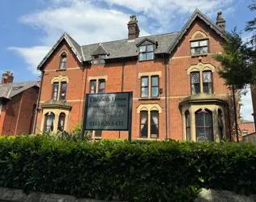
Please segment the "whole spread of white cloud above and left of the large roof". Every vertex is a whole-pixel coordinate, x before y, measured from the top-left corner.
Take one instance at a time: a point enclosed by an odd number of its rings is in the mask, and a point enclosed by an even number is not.
[[[184,19],[198,7],[207,15],[228,9],[233,0],[38,0],[45,9],[19,18],[19,22],[43,31],[35,47],[12,47],[28,63],[28,69],[38,74],[39,58],[45,57],[63,32],[79,44],[92,44],[127,38],[130,15],[139,16],[140,36],[148,32],[170,32],[171,27],[181,28]],[[102,6],[103,5],[103,6]],[[125,7],[126,9],[123,9]],[[130,13],[129,13],[130,12]],[[178,29],[172,30],[177,31]]]

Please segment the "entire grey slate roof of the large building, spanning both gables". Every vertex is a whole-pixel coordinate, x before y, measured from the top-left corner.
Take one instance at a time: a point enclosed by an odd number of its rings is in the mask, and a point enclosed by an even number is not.
[[[177,46],[179,41],[190,28],[191,24],[197,18],[202,19],[203,22],[207,23],[207,25],[211,27],[212,30],[214,30],[218,35],[225,39],[224,32],[220,29],[220,27],[218,27],[215,23],[208,19],[206,15],[203,15],[203,13],[197,9],[194,11],[193,15],[191,15],[186,25],[181,29],[181,32],[173,32],[155,36],[142,36],[134,40],[115,40],[83,46],[80,46],[71,36],[65,32],[57,41],[57,43],[53,45],[53,48],[51,48],[41,63],[37,66],[37,69],[41,69],[42,65],[50,57],[50,55],[53,53],[55,48],[58,47],[58,44],[60,44],[62,40],[66,40],[67,44],[69,44],[73,53],[75,53],[75,56],[81,63],[83,61],[92,61],[92,56],[96,54],[107,54],[105,60],[123,57],[137,57],[139,54],[138,46],[147,40],[153,44],[157,44],[156,50],[154,51],[155,54],[169,54],[172,53],[173,49]]]

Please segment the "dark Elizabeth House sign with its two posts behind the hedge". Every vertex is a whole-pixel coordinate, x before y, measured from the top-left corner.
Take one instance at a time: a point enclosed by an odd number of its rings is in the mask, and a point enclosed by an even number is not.
[[[129,131],[131,141],[132,92],[87,94],[83,112],[85,130]]]

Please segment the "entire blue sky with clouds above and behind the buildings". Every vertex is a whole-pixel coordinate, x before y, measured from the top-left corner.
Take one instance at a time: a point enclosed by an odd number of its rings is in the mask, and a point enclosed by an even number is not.
[[[251,0],[2,0],[0,12],[0,73],[11,69],[15,82],[35,80],[36,65],[62,32],[79,44],[127,37],[130,15],[138,17],[141,36],[180,31],[198,8],[215,22],[217,11],[227,30],[254,18]],[[250,36],[244,33],[243,38]],[[243,118],[252,120],[250,93],[243,98]]]

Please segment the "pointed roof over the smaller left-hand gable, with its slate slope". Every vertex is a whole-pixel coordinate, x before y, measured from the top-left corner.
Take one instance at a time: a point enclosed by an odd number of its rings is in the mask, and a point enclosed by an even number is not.
[[[59,40],[56,42],[56,44],[53,45],[53,48],[49,50],[49,53],[46,54],[44,59],[37,66],[37,69],[41,69],[42,65],[44,65],[45,61],[51,56],[53,51],[58,47],[58,44],[60,44],[62,40],[66,40],[66,43],[69,44],[70,48],[72,49],[77,59],[80,62],[83,62],[83,53],[82,53],[81,46],[71,36],[69,36],[66,32],[64,32],[62,36],[59,38]]]

